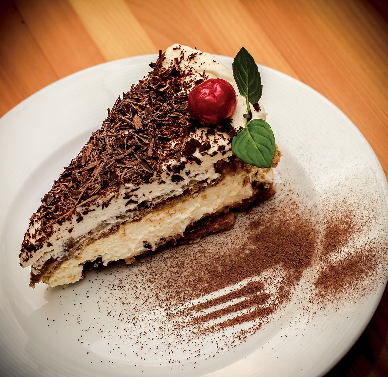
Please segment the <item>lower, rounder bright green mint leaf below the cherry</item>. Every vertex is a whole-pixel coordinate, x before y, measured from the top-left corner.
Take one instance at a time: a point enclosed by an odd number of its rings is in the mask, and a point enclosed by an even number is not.
[[[232,152],[242,161],[258,168],[270,168],[275,156],[275,137],[270,125],[252,119],[232,139]]]

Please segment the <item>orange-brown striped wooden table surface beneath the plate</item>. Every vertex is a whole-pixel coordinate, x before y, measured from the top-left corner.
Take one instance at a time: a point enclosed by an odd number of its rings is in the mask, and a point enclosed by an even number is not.
[[[388,173],[385,0],[0,0],[0,116],[95,64],[174,42],[257,63],[313,87],[358,127]],[[388,290],[328,376],[388,375]]]

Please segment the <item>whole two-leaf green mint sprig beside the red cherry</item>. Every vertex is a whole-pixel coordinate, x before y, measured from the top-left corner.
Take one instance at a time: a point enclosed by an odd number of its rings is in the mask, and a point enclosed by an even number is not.
[[[262,119],[251,118],[250,103],[262,96],[263,85],[258,66],[249,52],[241,48],[234,58],[233,76],[241,96],[246,99],[246,125],[232,139],[232,152],[242,161],[259,168],[270,168],[275,156],[275,137],[270,125]]]

